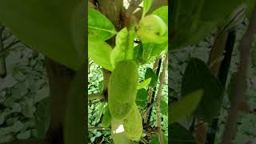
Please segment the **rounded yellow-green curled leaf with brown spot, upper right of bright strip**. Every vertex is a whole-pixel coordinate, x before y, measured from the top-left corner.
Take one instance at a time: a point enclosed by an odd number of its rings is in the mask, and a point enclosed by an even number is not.
[[[162,43],[168,40],[168,28],[162,18],[151,14],[138,23],[138,37],[142,43]]]

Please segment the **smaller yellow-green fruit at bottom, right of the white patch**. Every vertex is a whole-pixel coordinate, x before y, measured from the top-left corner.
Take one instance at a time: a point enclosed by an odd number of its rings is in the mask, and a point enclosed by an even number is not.
[[[131,140],[138,140],[142,136],[143,126],[142,126],[142,116],[139,113],[137,105],[134,103],[130,114],[126,116],[123,120],[125,133]]]

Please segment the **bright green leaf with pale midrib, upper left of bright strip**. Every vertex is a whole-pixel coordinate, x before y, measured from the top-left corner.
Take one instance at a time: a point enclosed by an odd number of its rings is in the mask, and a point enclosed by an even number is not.
[[[98,10],[88,10],[88,39],[90,41],[106,41],[116,34],[114,25]]]

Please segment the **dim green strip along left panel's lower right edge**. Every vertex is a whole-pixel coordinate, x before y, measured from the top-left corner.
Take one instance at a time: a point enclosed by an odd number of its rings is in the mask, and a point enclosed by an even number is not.
[[[84,94],[85,84],[85,70],[84,66],[80,66],[76,72],[73,81],[70,85],[69,99],[66,117],[64,122],[64,143],[83,143],[86,142],[86,134],[84,130],[85,105],[86,101]]]

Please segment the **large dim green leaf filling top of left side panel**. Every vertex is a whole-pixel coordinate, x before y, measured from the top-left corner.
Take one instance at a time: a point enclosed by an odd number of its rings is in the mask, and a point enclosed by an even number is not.
[[[82,0],[0,1],[3,25],[34,50],[74,70],[85,54],[85,14]]]

